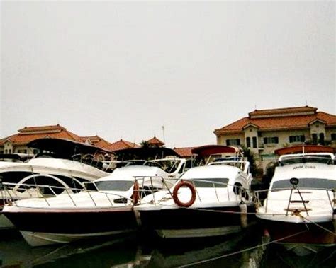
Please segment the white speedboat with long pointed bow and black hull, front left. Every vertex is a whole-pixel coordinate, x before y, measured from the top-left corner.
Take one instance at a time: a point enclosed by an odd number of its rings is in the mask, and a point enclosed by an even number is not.
[[[129,165],[88,183],[90,190],[11,202],[3,214],[33,246],[135,231],[138,221],[133,204],[149,192],[162,190],[180,174],[179,170],[166,173],[154,166]]]

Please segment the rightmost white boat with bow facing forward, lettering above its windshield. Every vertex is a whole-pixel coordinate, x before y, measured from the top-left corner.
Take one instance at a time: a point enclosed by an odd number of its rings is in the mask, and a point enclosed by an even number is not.
[[[257,218],[272,240],[298,255],[335,245],[335,188],[332,153],[280,156],[267,198],[257,207]]]

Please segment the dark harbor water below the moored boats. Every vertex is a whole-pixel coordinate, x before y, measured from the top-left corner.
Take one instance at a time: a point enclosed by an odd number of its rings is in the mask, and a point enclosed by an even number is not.
[[[216,240],[169,243],[133,234],[69,245],[30,247],[21,235],[1,233],[1,267],[336,267],[336,247],[299,257],[269,243],[259,228]]]

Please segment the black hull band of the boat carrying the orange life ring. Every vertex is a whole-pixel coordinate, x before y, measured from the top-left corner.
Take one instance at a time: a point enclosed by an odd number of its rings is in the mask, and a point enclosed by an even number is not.
[[[241,223],[240,209],[237,206],[208,209],[141,210],[140,218],[142,227],[149,230],[218,228],[240,226]]]

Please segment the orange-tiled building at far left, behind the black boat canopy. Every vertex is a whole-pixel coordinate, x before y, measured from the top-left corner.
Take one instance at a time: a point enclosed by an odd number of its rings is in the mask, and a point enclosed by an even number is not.
[[[28,148],[27,144],[34,139],[42,138],[69,139],[82,142],[80,136],[69,132],[60,124],[43,127],[23,127],[23,129],[18,129],[17,134],[0,139],[0,153],[36,153],[32,148]]]

